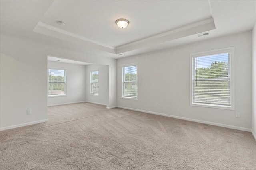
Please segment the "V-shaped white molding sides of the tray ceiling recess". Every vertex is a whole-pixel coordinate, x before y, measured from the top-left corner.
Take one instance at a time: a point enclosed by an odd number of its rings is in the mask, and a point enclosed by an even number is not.
[[[106,51],[108,53],[120,54],[128,51],[140,49],[143,47],[147,47],[150,45],[155,45],[158,43],[163,43],[166,41],[171,41],[174,39],[179,39],[182,37],[202,33],[205,31],[210,31],[212,29],[215,29],[214,20],[213,18],[209,18],[203,21],[192,23],[184,27],[179,27],[177,29],[173,29],[164,33],[160,33],[158,35],[154,35],[152,37],[141,39],[139,41],[134,41],[132,43],[121,45],[118,47],[112,47],[104,43],[93,41],[86,37],[82,37],[80,35],[71,33],[69,31],[65,31],[63,29],[60,29],[42,22],[39,22],[33,31],[37,33],[42,33],[44,35],[52,36],[58,39],[64,39],[72,43],[84,44],[86,46],[99,49],[102,51]]]

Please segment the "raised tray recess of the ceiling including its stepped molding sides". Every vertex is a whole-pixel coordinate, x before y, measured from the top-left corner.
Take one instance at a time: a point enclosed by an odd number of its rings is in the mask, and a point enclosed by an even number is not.
[[[208,1],[54,1],[34,31],[119,54],[212,29]]]

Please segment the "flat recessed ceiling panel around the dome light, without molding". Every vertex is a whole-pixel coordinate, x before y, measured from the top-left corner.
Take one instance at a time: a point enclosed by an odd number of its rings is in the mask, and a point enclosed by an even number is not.
[[[120,29],[115,21],[130,21]],[[54,1],[40,22],[112,47],[211,18],[208,1]],[[58,25],[57,21],[66,23]]]

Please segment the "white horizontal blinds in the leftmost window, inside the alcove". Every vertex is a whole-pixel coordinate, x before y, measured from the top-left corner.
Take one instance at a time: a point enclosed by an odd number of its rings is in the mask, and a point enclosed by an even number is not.
[[[66,71],[48,69],[48,95],[66,94]]]

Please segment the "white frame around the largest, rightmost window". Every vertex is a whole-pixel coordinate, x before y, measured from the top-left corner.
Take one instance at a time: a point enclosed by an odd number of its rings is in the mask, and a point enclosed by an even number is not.
[[[193,58],[195,57],[203,57],[207,55],[214,55],[220,53],[231,53],[231,56],[228,58],[228,62],[230,62],[231,72],[231,106],[224,106],[224,105],[217,105],[217,104],[202,104],[202,103],[194,103],[193,102]],[[234,47],[227,47],[222,49],[214,49],[210,51],[203,51],[198,53],[191,53],[190,54],[190,106],[199,106],[199,107],[210,107],[210,108],[217,108],[217,109],[228,109],[234,110],[235,109],[235,54],[234,54]]]

